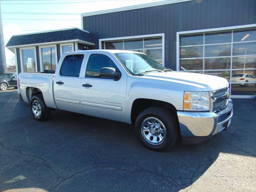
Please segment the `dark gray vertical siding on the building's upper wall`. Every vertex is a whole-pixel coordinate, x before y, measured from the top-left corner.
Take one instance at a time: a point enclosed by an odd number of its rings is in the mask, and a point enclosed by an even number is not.
[[[176,70],[176,32],[256,23],[256,0],[193,0],[83,18],[99,38],[165,34],[165,66]]]

